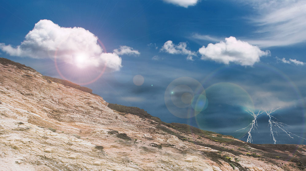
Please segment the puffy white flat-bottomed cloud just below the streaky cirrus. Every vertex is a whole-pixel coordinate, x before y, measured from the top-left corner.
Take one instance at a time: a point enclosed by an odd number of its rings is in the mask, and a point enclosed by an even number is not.
[[[216,62],[229,64],[231,62],[242,66],[253,66],[260,61],[261,56],[270,55],[270,51],[261,51],[257,46],[247,42],[236,40],[235,37],[225,38],[216,44],[208,44],[199,49],[203,60],[213,60]]]

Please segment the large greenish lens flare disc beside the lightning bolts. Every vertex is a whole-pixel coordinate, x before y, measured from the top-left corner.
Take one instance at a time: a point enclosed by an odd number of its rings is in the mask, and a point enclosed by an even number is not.
[[[252,118],[245,111],[254,109],[249,93],[239,85],[222,82],[205,89],[206,96],[199,96],[193,101],[196,111],[196,122],[200,129],[217,132],[234,132],[250,124]],[[241,132],[239,136],[243,136]]]

